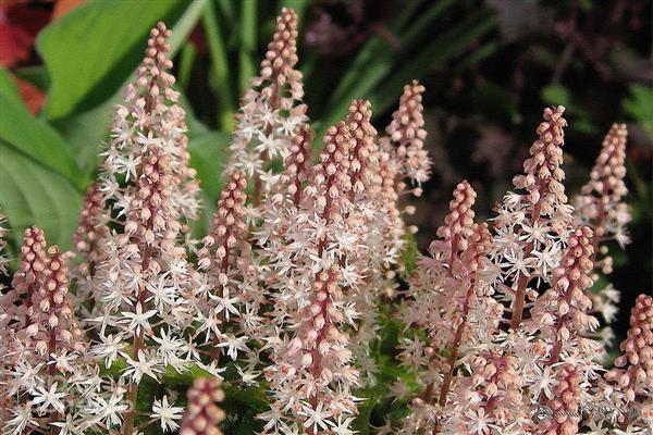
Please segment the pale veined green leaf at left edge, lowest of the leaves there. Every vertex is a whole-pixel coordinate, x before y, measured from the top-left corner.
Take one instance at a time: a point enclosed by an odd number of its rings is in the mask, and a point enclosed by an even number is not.
[[[82,194],[61,174],[37,163],[0,139],[0,209],[12,228],[14,247],[23,228],[40,226],[48,244],[71,248],[82,208]],[[16,252],[12,252],[16,258]]]

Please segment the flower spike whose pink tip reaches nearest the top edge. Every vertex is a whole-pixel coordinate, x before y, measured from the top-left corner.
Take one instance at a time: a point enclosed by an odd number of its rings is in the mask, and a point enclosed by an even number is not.
[[[238,123],[230,146],[231,162],[227,172],[234,170],[252,178],[252,203],[258,206],[272,188],[266,183],[273,161],[288,154],[295,129],[307,121],[301,73],[294,69],[297,63],[297,14],[284,8],[276,18],[272,41],[268,45],[261,62],[260,74],[254,77],[243,96]]]

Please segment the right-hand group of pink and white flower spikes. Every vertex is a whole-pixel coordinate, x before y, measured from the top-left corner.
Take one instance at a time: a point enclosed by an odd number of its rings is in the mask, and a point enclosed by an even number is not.
[[[492,236],[484,224],[473,224],[476,194],[463,182],[438,231],[441,239],[431,244],[431,257],[420,258],[398,311],[406,325],[398,359],[418,385],[417,391],[395,388],[410,399],[401,433],[562,435],[614,428],[639,434],[651,428],[645,406],[638,405],[651,397],[651,299],[638,299],[621,345],[626,355],[616,361],[630,366],[603,377],[597,362],[603,346],[595,340],[600,322],[590,291],[595,270],[603,266],[595,261],[595,228],[604,234],[612,222],[613,236],[625,233],[625,127],[615,125],[608,134],[579,199],[586,208],[578,219],[563,186],[563,111],[544,111],[526,174],[515,178],[523,192],[504,197]],[[628,413],[632,403],[641,418]],[[581,405],[614,412],[591,414],[591,424],[583,425]]]

